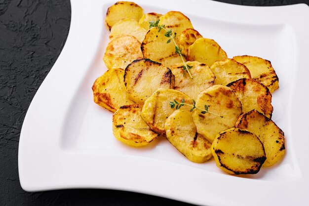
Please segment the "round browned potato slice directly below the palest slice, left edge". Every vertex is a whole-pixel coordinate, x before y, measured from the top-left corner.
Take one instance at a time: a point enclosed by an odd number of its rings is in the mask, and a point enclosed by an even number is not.
[[[108,69],[125,69],[135,59],[142,59],[141,43],[132,36],[116,37],[109,42],[103,60]]]

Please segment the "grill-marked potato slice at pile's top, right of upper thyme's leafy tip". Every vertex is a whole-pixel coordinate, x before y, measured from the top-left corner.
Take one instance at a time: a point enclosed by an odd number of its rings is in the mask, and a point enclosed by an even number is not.
[[[160,16],[160,25],[165,25],[166,29],[171,29],[172,33],[176,33],[176,39],[182,31],[193,29],[190,19],[179,11],[169,11],[163,16]]]

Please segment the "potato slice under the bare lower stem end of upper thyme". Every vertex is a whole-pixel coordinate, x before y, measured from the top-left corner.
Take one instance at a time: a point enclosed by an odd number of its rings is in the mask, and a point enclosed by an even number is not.
[[[204,63],[193,61],[186,62],[186,64],[192,66],[190,73],[193,79],[184,70],[183,63],[174,64],[171,66],[172,73],[175,76],[174,89],[182,91],[195,99],[200,91],[212,86],[215,75]]]

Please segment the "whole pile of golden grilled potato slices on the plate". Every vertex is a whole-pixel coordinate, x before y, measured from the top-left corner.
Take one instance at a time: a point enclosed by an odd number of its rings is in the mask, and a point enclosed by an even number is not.
[[[282,159],[284,133],[271,120],[279,83],[270,61],[228,58],[179,11],[144,13],[118,1],[106,24],[108,70],[92,90],[94,102],[114,113],[116,139],[138,147],[163,136],[190,161],[214,157],[230,174],[255,174]]]

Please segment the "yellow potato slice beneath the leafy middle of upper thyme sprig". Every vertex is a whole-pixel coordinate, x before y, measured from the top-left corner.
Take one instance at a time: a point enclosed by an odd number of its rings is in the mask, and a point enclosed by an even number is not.
[[[141,49],[145,59],[151,59],[170,67],[175,63],[182,62],[182,60],[175,52],[173,42],[166,43],[169,38],[165,37],[164,34],[163,29],[159,32],[158,28],[153,27],[146,34]]]

